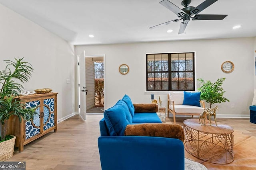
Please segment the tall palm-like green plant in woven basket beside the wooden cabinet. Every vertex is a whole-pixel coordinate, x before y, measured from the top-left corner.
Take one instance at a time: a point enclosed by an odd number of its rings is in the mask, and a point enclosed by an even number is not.
[[[15,136],[6,135],[8,119],[18,116],[19,120],[30,120],[35,114],[35,108],[25,109],[24,104],[18,100],[23,88],[21,83],[28,82],[33,68],[31,64],[22,59],[15,61],[5,60],[5,70],[0,70],[0,161],[12,157],[14,152]]]

